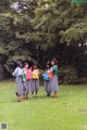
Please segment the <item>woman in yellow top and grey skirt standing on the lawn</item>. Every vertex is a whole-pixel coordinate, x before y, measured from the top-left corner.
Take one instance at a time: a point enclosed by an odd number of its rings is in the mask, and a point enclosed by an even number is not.
[[[37,96],[38,91],[39,91],[39,69],[35,64],[32,72],[32,95],[34,95],[35,92]]]

